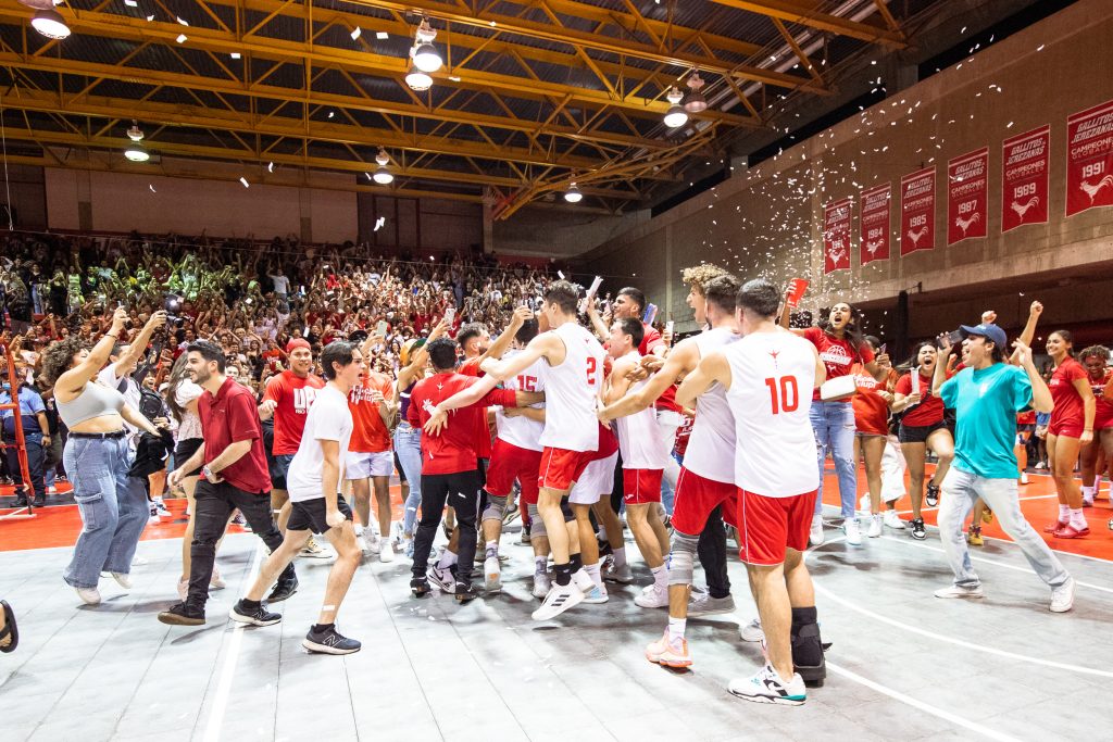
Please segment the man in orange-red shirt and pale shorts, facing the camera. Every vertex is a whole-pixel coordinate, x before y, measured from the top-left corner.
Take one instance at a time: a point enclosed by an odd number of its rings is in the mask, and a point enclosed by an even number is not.
[[[363,525],[367,551],[378,554],[381,562],[393,562],[391,546],[391,474],[394,454],[391,451],[388,425],[394,416],[394,380],[386,374],[372,370],[371,349],[377,335],[372,335],[359,348],[364,359],[363,379],[348,393],[352,412],[352,441],[345,459],[345,475],[352,482],[355,512]],[[371,525],[371,486],[375,487],[375,506],[378,508],[378,533]]]

